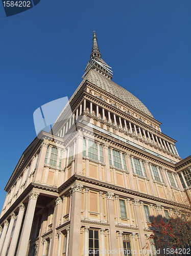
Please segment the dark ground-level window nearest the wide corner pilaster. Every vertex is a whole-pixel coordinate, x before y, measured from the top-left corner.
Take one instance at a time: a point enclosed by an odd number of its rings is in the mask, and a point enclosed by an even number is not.
[[[89,229],[89,255],[99,255],[99,233],[98,230]]]

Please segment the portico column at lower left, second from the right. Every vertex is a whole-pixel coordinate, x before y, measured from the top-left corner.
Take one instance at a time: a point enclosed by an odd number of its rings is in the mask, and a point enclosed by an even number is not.
[[[14,256],[14,254],[15,254],[15,249],[16,249],[16,245],[17,245],[17,240],[18,240],[24,212],[25,212],[25,206],[23,205],[23,203],[20,203],[13,237],[12,237],[11,244],[9,247],[8,256]],[[28,246],[28,243],[27,243],[27,246]]]

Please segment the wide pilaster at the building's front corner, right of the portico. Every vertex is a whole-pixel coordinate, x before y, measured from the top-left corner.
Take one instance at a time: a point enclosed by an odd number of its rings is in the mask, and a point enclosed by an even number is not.
[[[68,255],[80,255],[80,227],[81,227],[81,202],[83,185],[75,183],[71,186],[73,201],[71,203],[71,218],[69,232]]]

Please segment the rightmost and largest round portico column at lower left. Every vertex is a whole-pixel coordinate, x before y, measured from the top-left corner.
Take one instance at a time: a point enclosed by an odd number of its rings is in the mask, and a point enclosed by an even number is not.
[[[35,191],[31,191],[31,193],[29,194],[29,203],[27,206],[27,212],[25,216],[25,221],[23,223],[16,256],[27,254],[27,248],[28,248],[31,227],[33,223],[34,212],[35,212],[38,196],[39,196],[39,193]]]

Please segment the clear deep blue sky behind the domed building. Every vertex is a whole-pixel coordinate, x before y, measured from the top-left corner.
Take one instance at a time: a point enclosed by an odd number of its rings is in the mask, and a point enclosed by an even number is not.
[[[22,152],[36,137],[33,112],[73,94],[90,58],[93,30],[113,81],[140,99],[191,154],[190,0],[41,0],[6,17],[1,34],[1,196]]]

